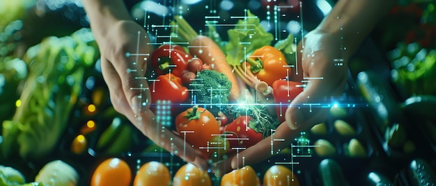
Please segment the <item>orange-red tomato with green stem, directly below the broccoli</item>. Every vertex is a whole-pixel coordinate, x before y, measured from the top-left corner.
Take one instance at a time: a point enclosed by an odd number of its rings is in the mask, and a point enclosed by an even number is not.
[[[205,159],[208,159],[211,153],[208,151],[208,142],[213,135],[219,135],[219,125],[215,116],[198,105],[188,108],[176,117],[176,130],[187,143],[200,150]]]

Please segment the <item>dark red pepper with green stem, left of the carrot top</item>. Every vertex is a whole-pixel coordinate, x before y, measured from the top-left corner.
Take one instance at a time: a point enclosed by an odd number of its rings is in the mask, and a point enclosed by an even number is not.
[[[177,44],[162,44],[151,54],[151,66],[157,75],[173,74],[182,76],[182,71],[187,69],[188,60],[192,56]]]

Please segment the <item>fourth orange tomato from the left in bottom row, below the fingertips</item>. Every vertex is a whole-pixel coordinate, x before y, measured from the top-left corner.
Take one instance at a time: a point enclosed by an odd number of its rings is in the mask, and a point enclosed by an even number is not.
[[[221,178],[221,186],[227,185],[256,186],[260,185],[260,180],[254,169],[247,165],[241,169],[224,174]]]

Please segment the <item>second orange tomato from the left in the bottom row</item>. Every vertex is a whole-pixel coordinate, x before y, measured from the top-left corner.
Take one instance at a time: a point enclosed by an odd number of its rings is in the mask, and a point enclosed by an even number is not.
[[[171,185],[171,175],[168,168],[161,162],[147,162],[139,168],[133,185]]]

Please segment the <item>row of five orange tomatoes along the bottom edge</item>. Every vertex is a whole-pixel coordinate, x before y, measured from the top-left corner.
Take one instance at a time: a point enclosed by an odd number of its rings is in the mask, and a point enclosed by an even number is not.
[[[194,164],[183,164],[171,179],[169,168],[162,162],[150,161],[142,164],[134,173],[125,160],[108,158],[95,169],[91,184],[95,186],[127,185],[212,185],[214,179],[207,171]],[[260,178],[253,167],[245,166],[222,176],[220,185],[260,185]],[[263,176],[263,185],[299,185],[293,171],[283,165],[272,165]]]

